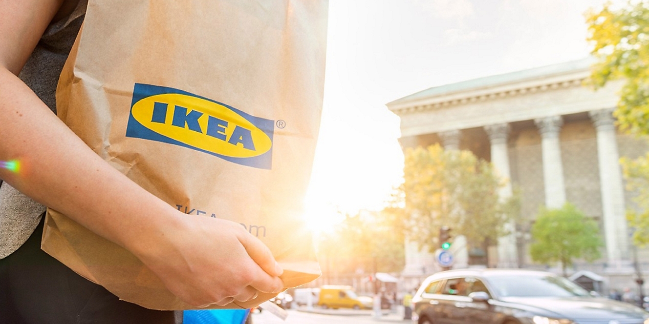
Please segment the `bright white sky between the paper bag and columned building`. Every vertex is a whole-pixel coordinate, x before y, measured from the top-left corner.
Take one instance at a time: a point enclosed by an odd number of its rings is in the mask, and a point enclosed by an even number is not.
[[[620,1],[613,1],[619,3]],[[307,217],[379,210],[402,181],[387,102],[433,86],[585,58],[604,0],[330,0],[321,132]]]

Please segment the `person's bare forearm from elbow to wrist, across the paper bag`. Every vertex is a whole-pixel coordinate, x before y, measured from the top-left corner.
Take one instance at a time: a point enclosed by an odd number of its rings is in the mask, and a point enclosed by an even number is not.
[[[126,248],[143,248],[133,244],[147,244],[144,235],[164,235],[155,224],[173,223],[159,218],[173,218],[165,211],[172,207],[103,161],[6,69],[0,98],[0,161],[20,167],[0,169],[0,178]]]

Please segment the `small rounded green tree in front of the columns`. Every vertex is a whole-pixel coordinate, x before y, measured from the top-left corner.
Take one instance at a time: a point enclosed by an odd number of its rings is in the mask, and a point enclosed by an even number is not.
[[[597,223],[570,203],[561,209],[541,209],[532,226],[532,241],[532,260],[561,262],[563,275],[566,275],[566,268],[572,266],[573,259],[598,259],[599,249],[604,246]]]

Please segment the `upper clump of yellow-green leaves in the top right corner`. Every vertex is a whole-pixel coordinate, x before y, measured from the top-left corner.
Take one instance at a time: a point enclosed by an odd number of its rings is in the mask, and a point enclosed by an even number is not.
[[[649,134],[649,2],[629,1],[623,8],[610,3],[586,15],[593,65],[591,84],[626,80],[615,117],[622,130]]]

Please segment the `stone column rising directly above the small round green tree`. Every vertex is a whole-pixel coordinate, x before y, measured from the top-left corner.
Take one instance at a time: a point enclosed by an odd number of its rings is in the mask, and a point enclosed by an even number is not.
[[[563,119],[561,116],[552,116],[535,119],[534,123],[541,132],[545,207],[561,208],[566,202],[561,146],[559,145],[559,130],[563,125]]]

